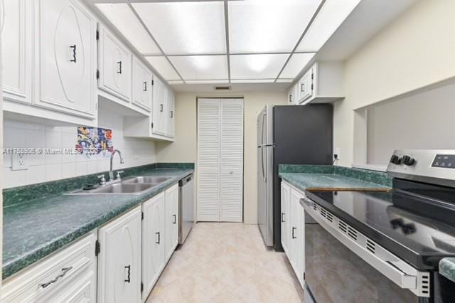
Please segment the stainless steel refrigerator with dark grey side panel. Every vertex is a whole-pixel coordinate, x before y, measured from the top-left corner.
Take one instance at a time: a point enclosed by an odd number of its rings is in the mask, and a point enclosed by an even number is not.
[[[282,251],[279,164],[332,164],[333,107],[267,105],[257,117],[257,217],[267,246]]]

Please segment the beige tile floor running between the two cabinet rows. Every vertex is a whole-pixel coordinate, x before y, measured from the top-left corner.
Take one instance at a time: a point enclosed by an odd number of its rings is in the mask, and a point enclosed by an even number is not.
[[[147,302],[303,302],[283,252],[267,250],[257,225],[198,223]]]

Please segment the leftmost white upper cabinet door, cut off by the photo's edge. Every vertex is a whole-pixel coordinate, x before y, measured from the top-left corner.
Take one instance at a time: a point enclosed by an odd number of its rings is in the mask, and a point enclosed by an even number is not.
[[[1,58],[4,98],[31,103],[32,2],[30,0],[2,2]]]

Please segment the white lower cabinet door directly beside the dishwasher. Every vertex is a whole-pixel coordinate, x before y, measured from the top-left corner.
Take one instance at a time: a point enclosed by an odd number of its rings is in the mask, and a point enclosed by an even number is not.
[[[166,261],[169,260],[178,245],[178,184],[165,193],[166,223]]]

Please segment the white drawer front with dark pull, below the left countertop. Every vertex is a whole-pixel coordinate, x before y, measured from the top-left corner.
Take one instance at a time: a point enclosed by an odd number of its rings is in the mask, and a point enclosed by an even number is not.
[[[77,292],[75,285],[86,280],[91,281],[92,297],[87,302],[95,302],[96,240],[96,233],[90,233],[6,280],[2,287],[2,302],[58,302],[58,297],[70,290]]]

